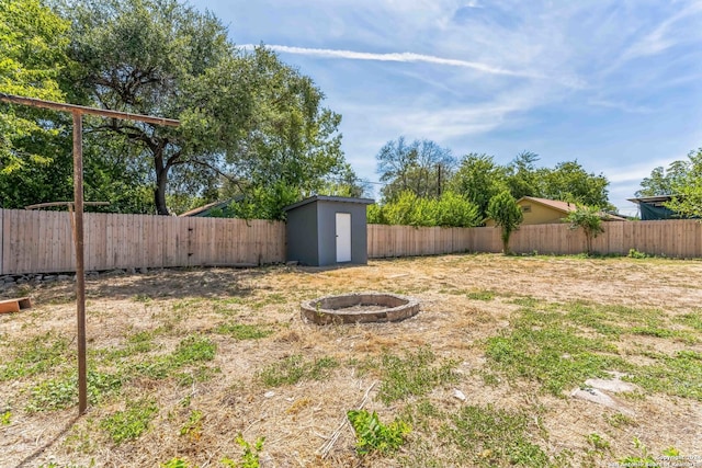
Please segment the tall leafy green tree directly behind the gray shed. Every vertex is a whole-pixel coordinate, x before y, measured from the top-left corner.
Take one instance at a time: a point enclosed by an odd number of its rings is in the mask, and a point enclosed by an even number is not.
[[[246,198],[267,205],[265,217],[281,218],[284,205],[304,196],[358,193],[341,150],[341,116],[321,106],[313,80],[264,47],[246,58],[256,73],[253,111],[248,132],[227,153],[237,180],[256,189],[240,186]]]

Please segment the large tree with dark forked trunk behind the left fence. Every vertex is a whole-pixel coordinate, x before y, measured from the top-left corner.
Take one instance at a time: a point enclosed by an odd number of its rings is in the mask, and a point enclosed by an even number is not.
[[[76,1],[65,14],[73,27],[70,55],[80,65],[76,82],[93,105],[183,119],[180,129],[118,119],[87,122],[98,138],[120,137],[151,162],[156,210],[168,214],[171,170],[197,162],[216,168],[231,140],[230,134],[218,134],[226,125],[217,119],[240,124],[247,118],[248,110],[237,112],[241,106],[233,99],[239,87],[213,99],[197,93],[217,72],[237,69],[230,65],[234,49],[226,28],[212,14],[171,0]],[[229,116],[223,112],[226,100],[231,101]],[[218,147],[206,140],[204,129]]]

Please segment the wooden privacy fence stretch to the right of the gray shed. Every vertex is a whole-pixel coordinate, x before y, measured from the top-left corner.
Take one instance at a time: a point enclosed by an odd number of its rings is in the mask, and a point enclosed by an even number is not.
[[[567,224],[521,226],[512,233],[517,253],[577,254],[586,251],[581,229]],[[650,255],[702,256],[702,224],[693,219],[612,221],[592,241],[592,251],[625,255],[636,249]],[[500,252],[499,228],[415,228],[369,225],[369,258]]]

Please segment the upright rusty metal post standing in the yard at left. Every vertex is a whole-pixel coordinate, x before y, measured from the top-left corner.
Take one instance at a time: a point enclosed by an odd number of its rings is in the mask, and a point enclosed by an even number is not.
[[[86,265],[83,255],[83,122],[73,111],[73,203],[76,219],[76,316],[78,318],[78,414],[88,409],[88,367],[86,365]]]

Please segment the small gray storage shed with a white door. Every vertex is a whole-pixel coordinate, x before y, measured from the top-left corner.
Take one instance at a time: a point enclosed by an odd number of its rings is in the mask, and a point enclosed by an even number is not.
[[[367,263],[365,207],[370,198],[316,195],[287,212],[287,261],[328,266]]]

